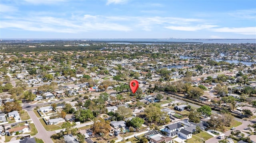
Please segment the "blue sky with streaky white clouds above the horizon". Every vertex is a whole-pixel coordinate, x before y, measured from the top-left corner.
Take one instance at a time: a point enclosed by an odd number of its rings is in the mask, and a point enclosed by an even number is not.
[[[0,0],[1,39],[256,38],[256,0]]]

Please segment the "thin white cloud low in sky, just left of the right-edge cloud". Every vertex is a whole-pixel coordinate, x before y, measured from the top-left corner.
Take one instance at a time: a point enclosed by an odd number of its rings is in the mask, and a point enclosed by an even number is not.
[[[167,29],[180,30],[180,31],[198,31],[202,29],[209,29],[217,27],[217,25],[196,25],[196,26],[166,26]]]

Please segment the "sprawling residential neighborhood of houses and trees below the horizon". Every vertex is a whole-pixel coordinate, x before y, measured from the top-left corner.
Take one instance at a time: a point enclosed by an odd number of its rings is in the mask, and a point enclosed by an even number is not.
[[[255,142],[255,44],[83,44],[0,51],[1,142]]]

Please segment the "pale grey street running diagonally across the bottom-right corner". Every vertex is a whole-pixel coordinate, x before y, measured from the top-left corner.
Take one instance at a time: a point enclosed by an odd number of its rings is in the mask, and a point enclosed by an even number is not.
[[[247,127],[247,125],[253,124],[255,122],[256,122],[256,119],[253,119],[252,121],[243,121],[242,122],[243,124],[237,126],[235,130],[242,131],[244,128]],[[226,131],[224,134],[226,136],[230,135],[231,134],[231,130]],[[248,134],[246,134],[244,137],[248,137]],[[218,143],[218,141],[220,141],[220,140],[222,140],[222,139],[218,139],[218,136],[216,136],[216,137],[212,137],[211,139],[208,139],[207,141],[205,141],[205,143]]]

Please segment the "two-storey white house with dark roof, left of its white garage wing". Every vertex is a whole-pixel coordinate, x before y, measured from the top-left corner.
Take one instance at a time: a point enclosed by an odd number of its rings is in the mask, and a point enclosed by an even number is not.
[[[184,125],[182,125],[181,123],[173,123],[171,125],[167,125],[164,127],[164,131],[167,133],[167,136],[171,136],[174,137],[175,135],[178,135],[178,132],[184,129]]]

